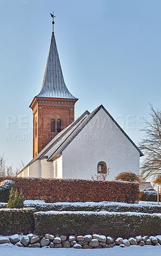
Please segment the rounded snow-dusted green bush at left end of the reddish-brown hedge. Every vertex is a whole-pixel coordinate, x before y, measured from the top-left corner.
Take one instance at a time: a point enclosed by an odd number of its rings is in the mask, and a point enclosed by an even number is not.
[[[10,190],[13,188],[15,182],[12,180],[3,180],[0,183],[0,202],[7,203],[9,200]]]

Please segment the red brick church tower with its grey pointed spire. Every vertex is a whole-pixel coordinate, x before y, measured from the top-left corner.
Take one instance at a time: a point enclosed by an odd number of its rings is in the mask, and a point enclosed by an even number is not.
[[[74,104],[77,100],[64,83],[52,33],[43,85],[29,106],[33,112],[33,157],[74,121]]]

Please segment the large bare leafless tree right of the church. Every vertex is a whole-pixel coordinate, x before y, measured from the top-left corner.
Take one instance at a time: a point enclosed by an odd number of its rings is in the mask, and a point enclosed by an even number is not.
[[[161,175],[161,110],[150,104],[150,111],[150,120],[144,120],[145,136],[139,148],[144,153],[141,179],[153,181]]]

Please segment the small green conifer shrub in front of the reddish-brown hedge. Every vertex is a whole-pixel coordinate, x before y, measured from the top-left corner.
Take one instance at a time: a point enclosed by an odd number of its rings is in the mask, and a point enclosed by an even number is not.
[[[24,196],[22,194],[22,190],[20,191],[20,195],[18,195],[17,190],[14,191],[13,188],[11,188],[9,201],[7,208],[23,208],[24,207]]]

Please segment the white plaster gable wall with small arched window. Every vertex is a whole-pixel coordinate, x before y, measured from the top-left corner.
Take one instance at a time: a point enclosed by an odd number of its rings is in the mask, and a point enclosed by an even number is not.
[[[120,172],[139,174],[139,152],[101,108],[62,152],[62,178],[91,179],[97,163],[110,170],[108,180]]]

